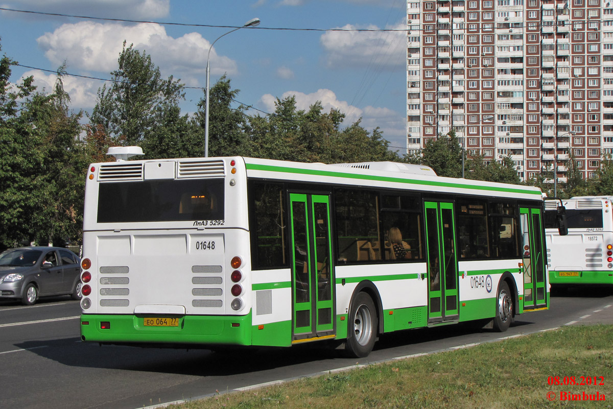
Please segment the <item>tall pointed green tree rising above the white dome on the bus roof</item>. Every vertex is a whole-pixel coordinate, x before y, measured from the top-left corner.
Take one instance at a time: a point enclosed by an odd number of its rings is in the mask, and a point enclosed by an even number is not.
[[[140,53],[133,45],[126,48],[124,42],[118,69],[111,75],[112,85],[98,90],[89,120],[93,125],[101,125],[114,143],[142,145],[151,132],[155,132],[156,138],[169,137],[164,134],[164,126],[176,130],[174,126],[180,117],[176,109],[185,99],[183,85],[172,75],[162,78],[150,55]],[[169,113],[170,110],[175,111]]]

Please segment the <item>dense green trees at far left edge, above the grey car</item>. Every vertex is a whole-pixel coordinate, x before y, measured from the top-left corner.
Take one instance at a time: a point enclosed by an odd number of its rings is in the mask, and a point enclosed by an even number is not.
[[[78,239],[82,227],[83,165],[80,113],[69,113],[61,74],[55,92],[40,93],[24,78],[10,86],[0,60],[0,244]]]

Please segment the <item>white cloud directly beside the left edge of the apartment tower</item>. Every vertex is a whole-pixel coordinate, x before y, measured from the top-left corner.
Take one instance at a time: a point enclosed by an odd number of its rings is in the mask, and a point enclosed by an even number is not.
[[[375,25],[362,28],[351,24],[341,28],[379,29]],[[406,24],[398,23],[387,29],[406,30]],[[319,40],[326,50],[326,64],[330,68],[369,66],[380,71],[405,64],[406,31],[327,31]]]

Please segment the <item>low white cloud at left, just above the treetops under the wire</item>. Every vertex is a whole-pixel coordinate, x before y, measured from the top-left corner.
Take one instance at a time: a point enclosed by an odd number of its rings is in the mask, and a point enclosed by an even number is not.
[[[34,77],[34,85],[38,91],[52,93],[55,88],[55,80],[57,75],[45,74],[39,70],[31,70],[23,73],[21,78]],[[77,109],[93,108],[96,105],[96,96],[98,88],[101,88],[103,83],[99,80],[89,78],[70,77],[66,75],[62,78],[64,91],[70,95],[70,105]]]

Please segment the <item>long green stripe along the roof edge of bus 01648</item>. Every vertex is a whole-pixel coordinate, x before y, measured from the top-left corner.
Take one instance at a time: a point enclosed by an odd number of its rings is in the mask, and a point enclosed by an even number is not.
[[[254,164],[254,163],[247,163],[245,164],[245,166],[246,166],[246,169],[248,170],[264,170],[267,172],[283,172],[283,173],[288,173],[288,174],[318,175],[318,176],[325,176],[325,177],[341,177],[341,178],[362,179],[362,180],[377,180],[380,182],[439,186],[441,188],[463,188],[463,189],[485,190],[485,191],[500,191],[500,192],[507,192],[507,193],[523,193],[523,194],[533,194],[535,196],[541,197],[540,191],[534,191],[531,189],[497,188],[495,186],[474,186],[474,185],[465,185],[463,183],[436,182],[432,180],[416,180],[416,179],[382,177],[382,176],[373,176],[373,175],[356,175],[356,174],[348,174],[344,172],[333,172],[330,170],[299,169],[295,167],[272,166],[272,165],[262,165],[262,164]]]

